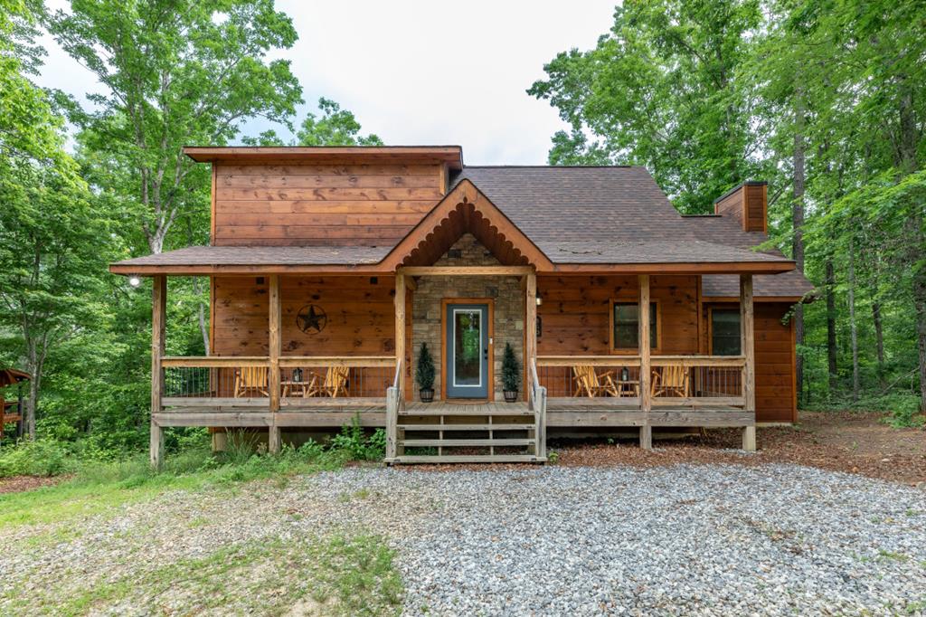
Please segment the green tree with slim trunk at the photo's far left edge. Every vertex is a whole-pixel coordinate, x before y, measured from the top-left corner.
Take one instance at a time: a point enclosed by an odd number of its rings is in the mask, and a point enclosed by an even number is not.
[[[64,151],[63,119],[28,78],[41,56],[34,6],[0,6],[0,352],[31,376],[34,437],[49,354],[106,319],[96,294],[109,237]]]

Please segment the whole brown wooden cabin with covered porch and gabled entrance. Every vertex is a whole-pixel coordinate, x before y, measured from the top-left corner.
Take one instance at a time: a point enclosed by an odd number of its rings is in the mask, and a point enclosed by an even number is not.
[[[795,422],[811,291],[767,240],[767,187],[682,216],[641,167],[470,167],[459,146],[187,147],[209,246],[153,279],[151,456],[163,429],[286,435],[358,418],[387,462],[543,461],[547,431]],[[210,280],[211,354],[165,355],[170,276]],[[420,401],[422,344],[434,400]],[[501,358],[523,367],[505,402]]]

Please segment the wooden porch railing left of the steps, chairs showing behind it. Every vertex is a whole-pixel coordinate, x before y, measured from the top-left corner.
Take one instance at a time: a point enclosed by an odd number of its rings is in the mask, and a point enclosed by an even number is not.
[[[161,366],[164,408],[269,408],[268,357],[165,357]],[[394,357],[281,357],[281,408],[382,402],[394,366]]]

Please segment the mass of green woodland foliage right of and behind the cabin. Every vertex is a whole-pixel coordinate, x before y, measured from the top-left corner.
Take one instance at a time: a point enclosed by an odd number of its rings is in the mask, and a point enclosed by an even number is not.
[[[820,298],[801,402],[926,410],[922,3],[629,0],[530,94],[569,123],[554,164],[643,164],[682,212],[761,175],[770,245]],[[832,277],[828,272],[832,271]],[[830,305],[828,307],[828,305]]]

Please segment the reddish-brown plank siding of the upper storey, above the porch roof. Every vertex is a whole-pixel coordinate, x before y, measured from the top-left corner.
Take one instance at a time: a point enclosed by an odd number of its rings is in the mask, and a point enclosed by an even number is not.
[[[392,246],[444,195],[442,169],[217,163],[213,244]]]

